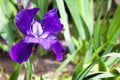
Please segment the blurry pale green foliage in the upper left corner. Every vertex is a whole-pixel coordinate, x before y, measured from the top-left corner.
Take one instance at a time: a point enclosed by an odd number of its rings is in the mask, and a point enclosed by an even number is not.
[[[16,9],[10,1],[1,0],[0,1],[0,33],[2,38],[10,46],[14,43],[14,21],[13,17],[16,14]],[[8,51],[8,50],[7,50]]]

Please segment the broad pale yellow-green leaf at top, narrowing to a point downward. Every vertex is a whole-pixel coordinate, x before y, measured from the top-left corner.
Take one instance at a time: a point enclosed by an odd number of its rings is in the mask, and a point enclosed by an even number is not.
[[[93,24],[94,24],[94,3],[93,0],[76,0],[77,8],[80,16],[83,18],[86,26],[88,27],[88,31],[90,37],[93,33]]]

